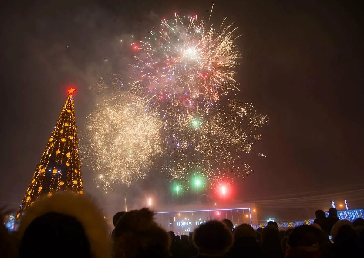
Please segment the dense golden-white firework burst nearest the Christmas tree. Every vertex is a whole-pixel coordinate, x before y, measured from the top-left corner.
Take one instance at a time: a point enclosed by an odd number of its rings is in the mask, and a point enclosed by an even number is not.
[[[86,160],[100,172],[96,180],[105,191],[145,177],[161,153],[161,121],[144,109],[145,101],[124,94],[88,117]]]

